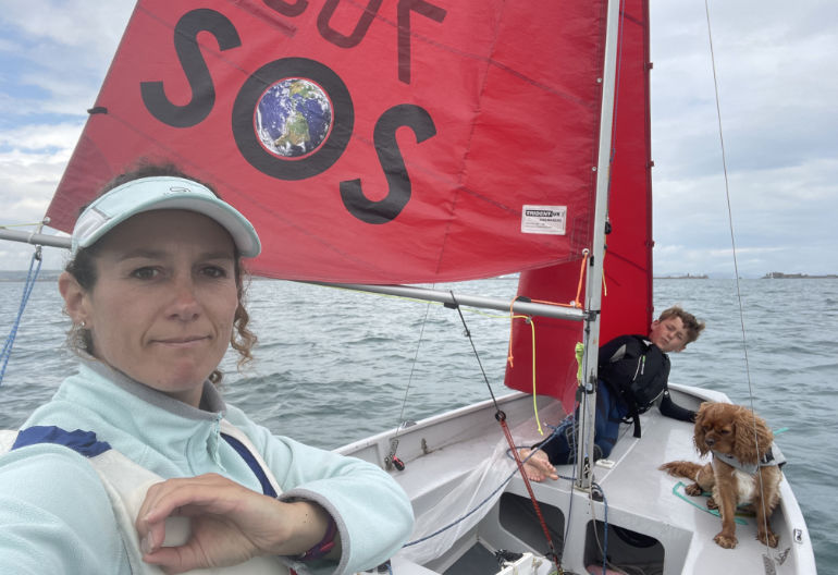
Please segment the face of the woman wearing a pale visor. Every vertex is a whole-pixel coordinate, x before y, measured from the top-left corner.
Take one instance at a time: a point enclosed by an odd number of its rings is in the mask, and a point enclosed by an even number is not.
[[[97,244],[97,281],[67,310],[94,355],[197,406],[230,344],[238,305],[235,248],[210,218],[185,210],[134,216]],[[72,291],[71,291],[72,293]]]

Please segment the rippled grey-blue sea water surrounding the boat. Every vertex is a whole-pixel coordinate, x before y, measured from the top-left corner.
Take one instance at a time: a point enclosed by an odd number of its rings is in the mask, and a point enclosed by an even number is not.
[[[3,341],[23,286],[0,282]],[[498,278],[436,289],[510,298],[516,286]],[[74,369],[61,304],[54,282],[35,285],[0,383],[0,429],[20,426]],[[670,354],[670,381],[723,391],[785,429],[777,443],[818,572],[838,573],[838,280],[656,280],[657,313],[673,304],[707,328]],[[506,392],[509,320],[500,313],[464,310],[478,362],[459,314],[438,304],[255,280],[248,309],[255,360],[238,371],[236,357],[225,357],[224,393],[275,433],[332,449],[485,400],[488,384]]]

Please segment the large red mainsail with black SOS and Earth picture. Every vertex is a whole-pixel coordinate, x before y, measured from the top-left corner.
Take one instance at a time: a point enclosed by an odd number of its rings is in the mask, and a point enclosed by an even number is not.
[[[48,216],[69,231],[106,181],[169,159],[254,222],[258,274],[572,268],[603,38],[596,1],[140,0]]]

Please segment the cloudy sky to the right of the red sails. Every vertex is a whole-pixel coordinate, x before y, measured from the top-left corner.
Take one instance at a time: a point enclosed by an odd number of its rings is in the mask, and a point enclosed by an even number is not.
[[[750,276],[835,273],[838,8],[712,3],[715,79],[700,8],[652,8],[656,270],[713,272],[736,242]]]

